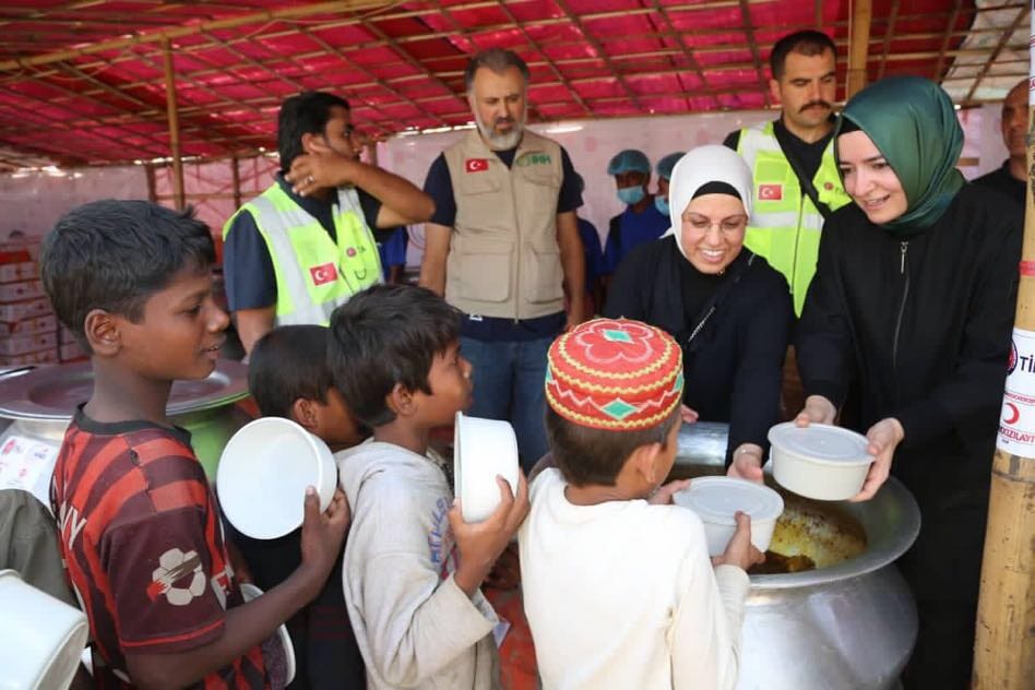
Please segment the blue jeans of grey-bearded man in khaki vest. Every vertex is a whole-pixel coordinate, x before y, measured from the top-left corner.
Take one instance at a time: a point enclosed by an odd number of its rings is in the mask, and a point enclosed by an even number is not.
[[[552,337],[535,341],[460,338],[461,354],[474,366],[472,417],[505,419],[514,427],[525,474],[549,450],[546,440],[546,354]]]

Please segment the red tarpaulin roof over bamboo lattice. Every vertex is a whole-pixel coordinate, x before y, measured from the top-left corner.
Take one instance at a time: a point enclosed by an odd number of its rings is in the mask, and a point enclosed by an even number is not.
[[[528,62],[533,121],[762,108],[773,105],[770,47],[792,31],[835,39],[844,84],[850,8],[847,0],[8,2],[0,158],[78,165],[170,155],[166,47],[185,156],[274,148],[278,106],[304,90],[345,96],[373,135],[463,124],[464,67],[492,46]],[[1012,29],[1026,28],[1027,4],[1008,8],[1015,22],[989,33],[989,60]],[[875,0],[869,79],[940,81],[980,12],[973,0]],[[1016,64],[1025,74],[1027,63]]]

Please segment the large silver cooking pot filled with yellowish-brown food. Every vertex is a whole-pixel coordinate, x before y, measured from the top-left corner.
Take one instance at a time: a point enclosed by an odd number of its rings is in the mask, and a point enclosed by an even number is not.
[[[719,424],[683,425],[673,474],[687,477],[722,472],[726,430],[726,425]],[[825,516],[825,522],[819,520],[805,532],[819,537],[813,542],[831,535],[836,540],[843,532],[842,545],[847,547],[838,555],[836,544],[830,548],[829,544],[809,544],[806,538],[805,544],[792,548],[811,551],[822,567],[751,575],[737,687],[896,687],[916,641],[917,617],[913,595],[894,560],[919,533],[916,501],[894,478],[864,503],[789,498],[793,500],[781,519],[788,527],[785,532],[800,533],[802,518],[808,522]],[[780,523],[776,531],[774,545],[781,543]],[[865,546],[859,542],[860,533],[865,534]]]

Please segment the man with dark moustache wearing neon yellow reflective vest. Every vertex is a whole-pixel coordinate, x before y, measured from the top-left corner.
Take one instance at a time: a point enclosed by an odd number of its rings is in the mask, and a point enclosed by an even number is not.
[[[819,32],[797,32],[776,41],[769,86],[780,102],[780,119],[735,131],[723,142],[747,160],[754,180],[754,210],[743,243],[784,274],[798,316],[816,273],[823,219],[852,201],[831,141],[835,56],[834,41]]]

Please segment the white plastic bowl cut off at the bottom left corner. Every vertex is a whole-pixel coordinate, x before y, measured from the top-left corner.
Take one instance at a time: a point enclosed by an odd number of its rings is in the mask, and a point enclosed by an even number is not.
[[[88,629],[86,616],[0,570],[0,688],[68,688]]]

